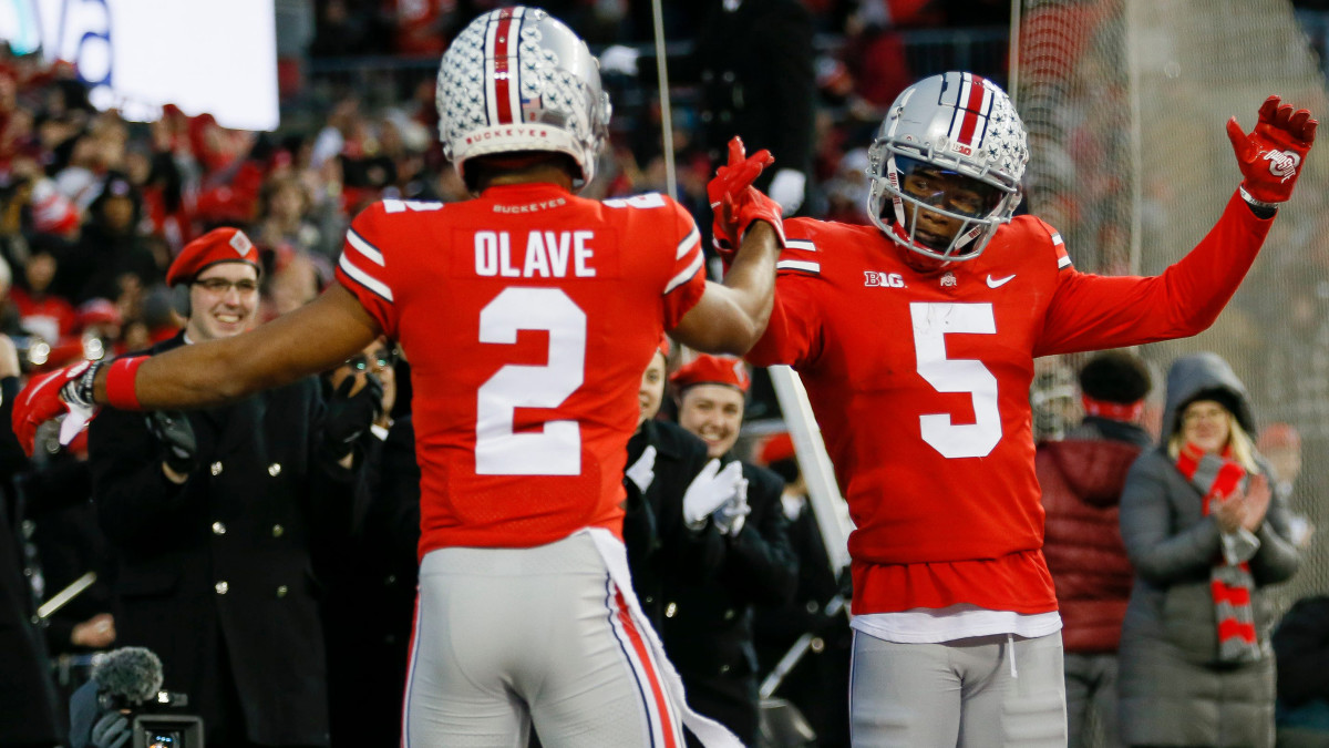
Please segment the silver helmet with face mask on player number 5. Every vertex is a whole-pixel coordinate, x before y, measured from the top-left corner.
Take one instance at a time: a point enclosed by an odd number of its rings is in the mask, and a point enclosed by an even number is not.
[[[868,149],[868,216],[912,252],[973,260],[1019,205],[1026,140],[1010,97],[994,83],[960,72],[924,79],[890,105]],[[940,186],[957,184],[964,197]],[[888,196],[893,213],[884,216]],[[924,212],[961,221],[960,228],[932,236],[920,230]]]

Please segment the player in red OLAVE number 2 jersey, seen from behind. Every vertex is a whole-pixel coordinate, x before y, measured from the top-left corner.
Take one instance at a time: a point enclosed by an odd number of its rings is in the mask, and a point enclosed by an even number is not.
[[[415,383],[420,592],[403,744],[738,745],[682,699],[619,540],[637,390],[663,330],[744,353],[766,326],[779,208],[747,194],[724,283],[670,197],[591,201],[609,118],[595,59],[534,8],[489,12],[439,71],[440,136],[473,200],[355,218],[339,285],[262,327],[29,383],[15,429],[70,407],[198,407],[400,343]],[[768,154],[735,162],[751,184]],[[736,189],[735,188],[735,189]],[[66,419],[65,423],[72,423]]]

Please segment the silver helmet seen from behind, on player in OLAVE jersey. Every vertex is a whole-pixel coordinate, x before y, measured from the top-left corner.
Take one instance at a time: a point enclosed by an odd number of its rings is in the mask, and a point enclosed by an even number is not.
[[[439,138],[457,172],[468,158],[518,150],[571,156],[577,186],[595,176],[609,126],[599,63],[540,8],[501,8],[470,21],[439,67]]]

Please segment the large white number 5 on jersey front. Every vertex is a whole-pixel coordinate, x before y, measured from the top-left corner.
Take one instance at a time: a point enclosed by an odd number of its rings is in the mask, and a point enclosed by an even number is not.
[[[981,361],[946,358],[946,333],[997,333],[990,303],[909,305],[918,375],[938,393],[969,393],[974,423],[952,423],[949,413],[918,417],[922,441],[948,458],[986,457],[1001,441],[997,378]]]

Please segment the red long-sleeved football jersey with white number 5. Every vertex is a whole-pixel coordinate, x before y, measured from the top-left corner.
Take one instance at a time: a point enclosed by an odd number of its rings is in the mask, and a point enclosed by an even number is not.
[[[775,310],[748,359],[791,363],[807,386],[857,526],[853,612],[1057,610],[1034,358],[1204,330],[1271,224],[1233,197],[1195,250],[1140,278],[1079,273],[1061,236],[1027,216],[932,274],[873,226],[785,221]]]

